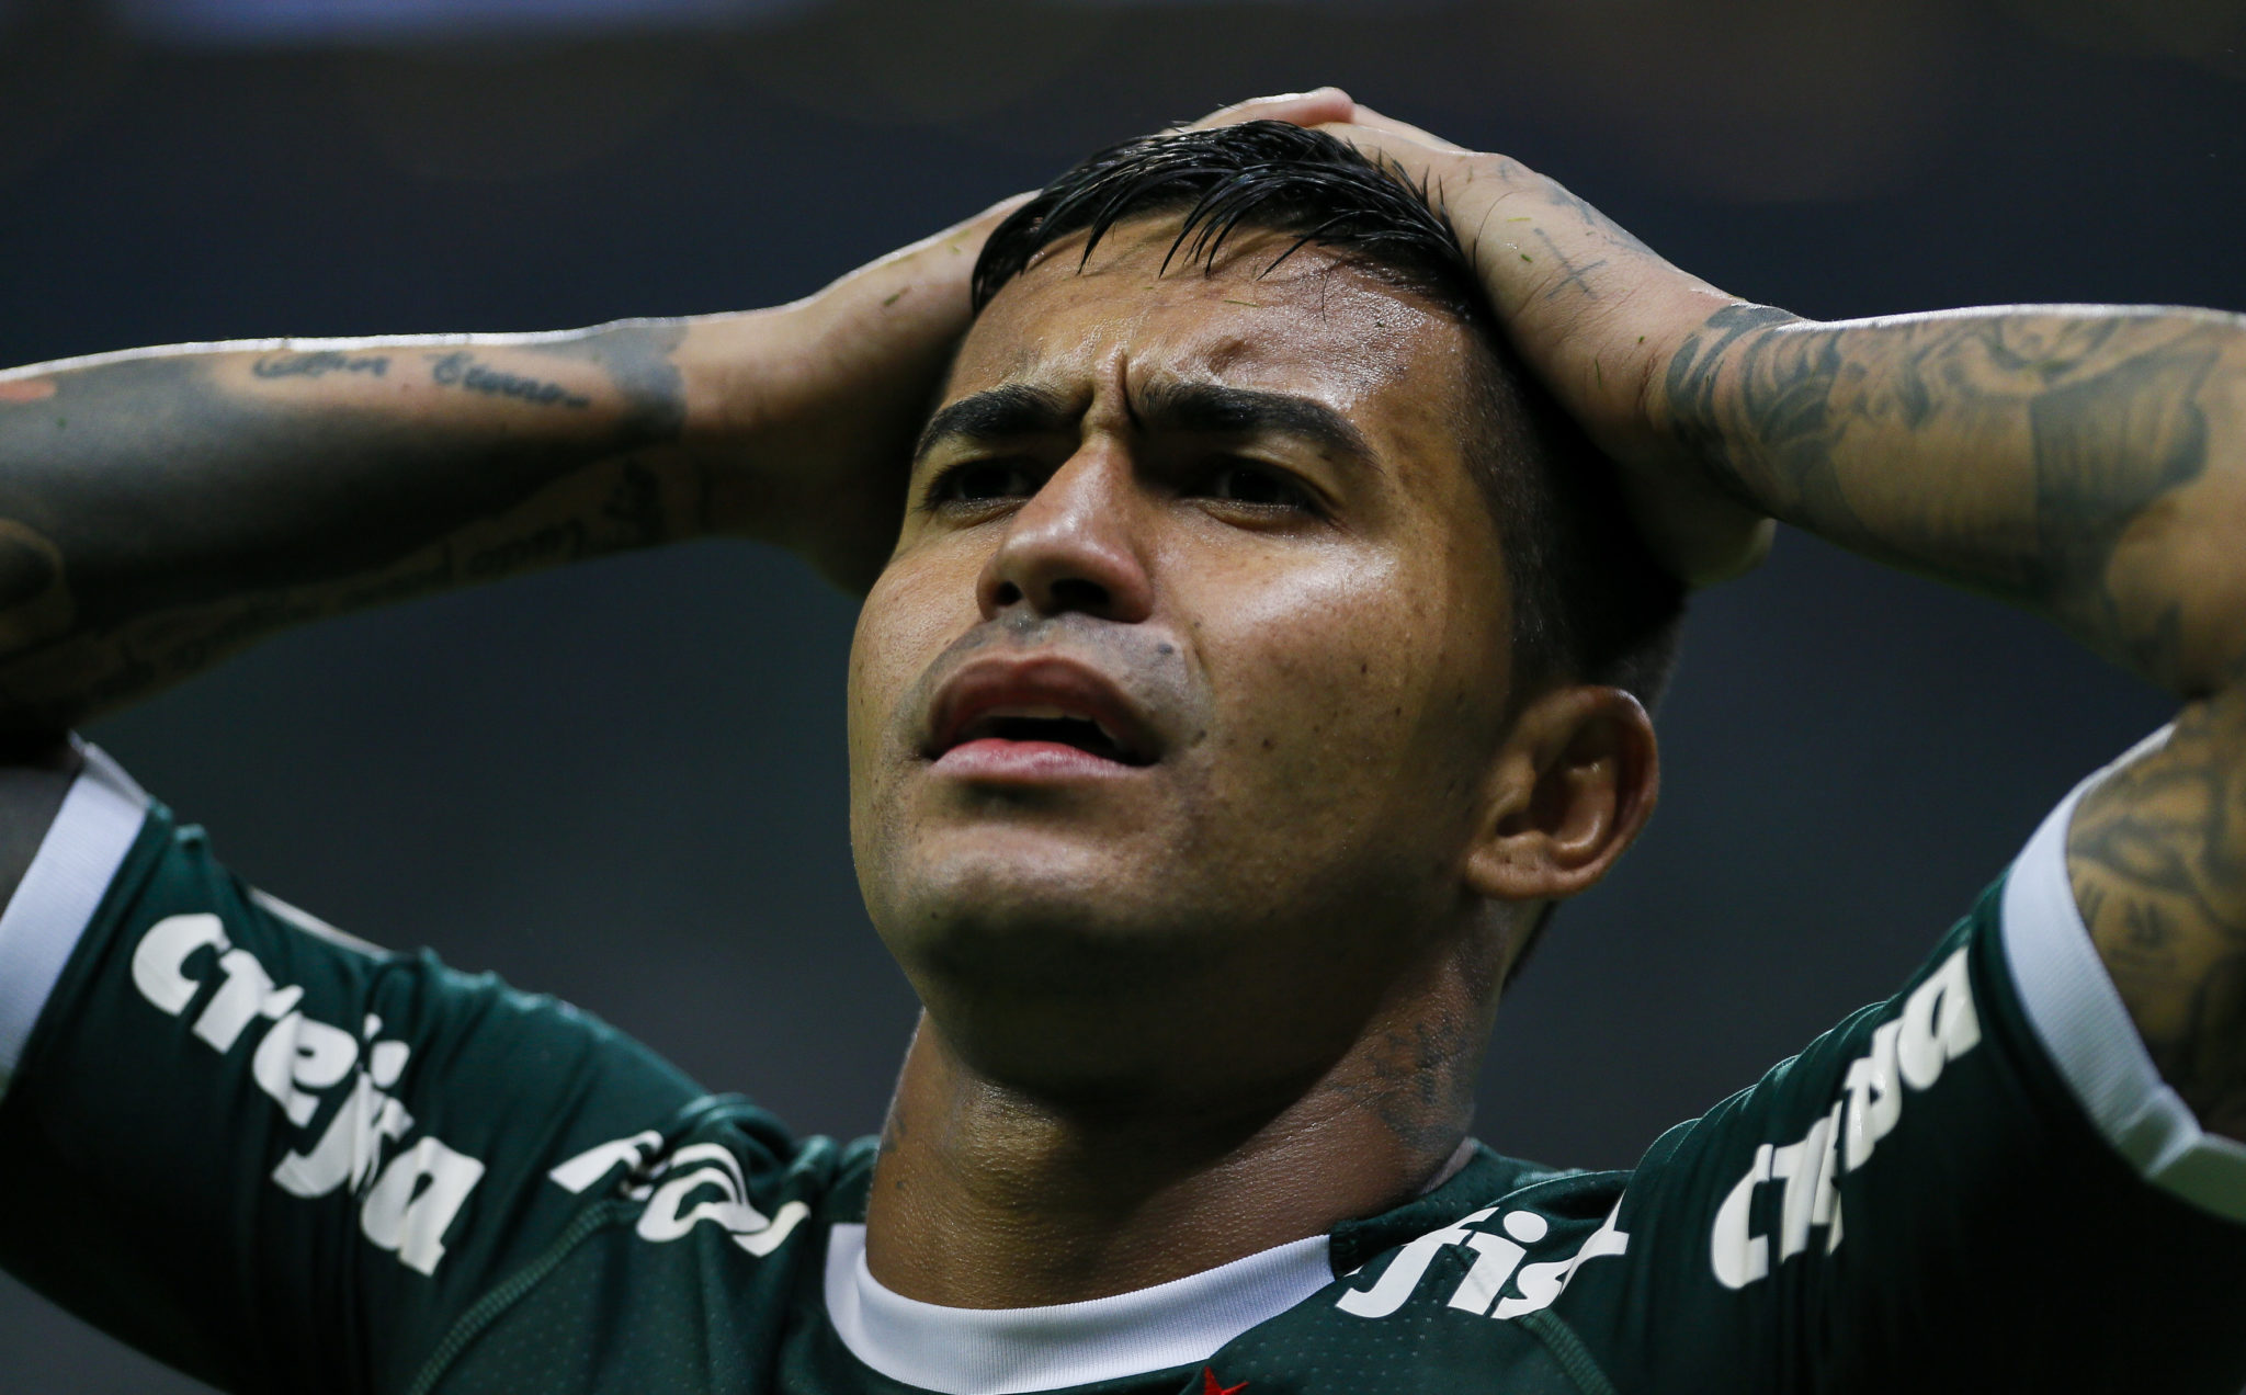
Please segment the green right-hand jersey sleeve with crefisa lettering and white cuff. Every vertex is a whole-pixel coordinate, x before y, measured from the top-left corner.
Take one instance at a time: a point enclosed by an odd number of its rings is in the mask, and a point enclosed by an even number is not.
[[[2246,1384],[2246,1150],[2170,1092],[2071,795],[1911,982],[1664,1134],[1554,1307],[1640,1391]]]

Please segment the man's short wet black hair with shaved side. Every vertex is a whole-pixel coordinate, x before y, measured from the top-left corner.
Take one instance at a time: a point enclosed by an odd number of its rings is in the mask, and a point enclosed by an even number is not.
[[[1213,267],[1235,227],[1291,234],[1271,267],[1314,243],[1469,326],[1487,355],[1460,429],[1505,550],[1514,703],[1556,683],[1658,703],[1684,589],[1628,523],[1613,465],[1505,341],[1437,195],[1285,121],[1150,135],[1092,155],[1015,209],[975,263],[975,310],[1053,243],[1089,234],[1089,261],[1114,225],[1150,216],[1181,216],[1168,261]]]

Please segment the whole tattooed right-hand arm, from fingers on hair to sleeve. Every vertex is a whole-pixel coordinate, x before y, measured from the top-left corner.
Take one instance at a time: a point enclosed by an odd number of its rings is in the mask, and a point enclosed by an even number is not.
[[[1523,357],[1696,582],[1781,519],[2039,611],[2179,699],[2069,874],[2170,1085],[2246,1139],[2246,319],[2044,306],[1813,323],[1678,272],[1552,180],[1359,115],[1431,177]]]

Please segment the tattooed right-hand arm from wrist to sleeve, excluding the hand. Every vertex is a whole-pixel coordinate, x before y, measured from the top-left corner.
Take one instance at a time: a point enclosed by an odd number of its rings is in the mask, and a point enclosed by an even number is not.
[[[1667,373],[1711,478],[2042,611],[2185,699],[2084,795],[2075,901],[2170,1085],[2246,1139],[2246,321],[1711,317]]]

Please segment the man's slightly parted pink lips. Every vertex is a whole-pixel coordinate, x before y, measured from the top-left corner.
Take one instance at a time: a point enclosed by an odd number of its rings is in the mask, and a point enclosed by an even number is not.
[[[1103,746],[995,730],[1004,721],[1076,719],[1098,726]],[[930,703],[923,755],[946,773],[982,777],[1123,775],[1161,759],[1154,726],[1098,669],[1058,654],[986,656],[943,681]]]

